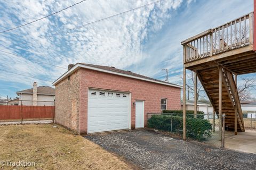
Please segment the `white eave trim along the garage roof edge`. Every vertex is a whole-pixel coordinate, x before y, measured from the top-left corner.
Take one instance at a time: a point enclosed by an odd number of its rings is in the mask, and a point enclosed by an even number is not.
[[[159,81],[155,81],[155,80],[140,78],[140,77],[136,77],[136,76],[134,76],[134,75],[128,75],[128,74],[118,73],[118,72],[109,71],[109,70],[105,70],[105,69],[99,69],[99,68],[96,68],[96,67],[83,65],[83,64],[80,64],[80,63],[77,63],[77,64],[74,65],[70,70],[68,70],[66,73],[62,74],[61,77],[59,77],[57,80],[55,80],[55,81],[52,83],[53,86],[55,86],[56,84],[58,84],[61,80],[67,78],[70,74],[72,74],[73,72],[75,72],[75,71],[76,71],[77,69],[79,69],[79,68],[84,68],[84,69],[89,69],[89,70],[95,70],[95,71],[100,71],[100,72],[105,72],[105,73],[110,73],[110,74],[115,74],[115,75],[121,75],[121,76],[123,76],[123,77],[129,77],[129,78],[138,79],[138,80],[143,80],[143,81],[148,81],[148,82],[154,82],[154,83],[163,84],[163,85],[166,85],[166,86],[171,86],[171,87],[176,87],[176,88],[182,88],[182,86],[179,86],[179,85],[177,85],[177,84],[170,84],[170,83],[165,83],[165,82],[159,82]]]

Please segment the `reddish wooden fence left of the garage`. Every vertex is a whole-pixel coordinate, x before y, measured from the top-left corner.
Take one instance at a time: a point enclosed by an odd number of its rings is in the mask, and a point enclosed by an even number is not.
[[[0,120],[53,119],[54,106],[0,106]]]

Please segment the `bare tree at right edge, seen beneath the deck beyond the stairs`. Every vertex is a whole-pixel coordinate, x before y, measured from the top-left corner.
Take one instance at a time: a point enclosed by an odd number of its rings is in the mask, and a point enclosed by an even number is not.
[[[251,90],[256,89],[256,77],[242,78],[243,84],[237,87],[240,101],[250,100],[252,98]]]

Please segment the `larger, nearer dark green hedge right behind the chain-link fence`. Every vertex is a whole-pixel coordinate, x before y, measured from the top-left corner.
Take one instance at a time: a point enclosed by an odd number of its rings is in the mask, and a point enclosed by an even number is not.
[[[181,116],[152,115],[148,127],[182,134],[183,119]],[[196,140],[211,138],[212,125],[210,121],[201,118],[186,118],[186,136]]]

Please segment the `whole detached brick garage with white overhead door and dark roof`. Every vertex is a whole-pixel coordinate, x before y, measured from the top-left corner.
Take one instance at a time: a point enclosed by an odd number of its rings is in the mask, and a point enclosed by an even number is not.
[[[53,82],[55,122],[78,134],[143,128],[147,113],[180,109],[179,85],[77,63]]]

